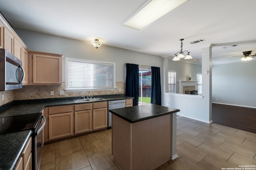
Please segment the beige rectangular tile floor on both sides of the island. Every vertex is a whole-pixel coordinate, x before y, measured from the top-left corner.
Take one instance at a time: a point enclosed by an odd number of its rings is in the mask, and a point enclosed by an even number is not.
[[[156,170],[256,166],[256,134],[177,116],[177,153]],[[42,165],[43,170],[119,170],[111,155],[111,129],[44,145]]]

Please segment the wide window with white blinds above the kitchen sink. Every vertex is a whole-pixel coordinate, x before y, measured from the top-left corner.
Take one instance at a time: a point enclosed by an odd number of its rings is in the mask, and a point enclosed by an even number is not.
[[[66,58],[66,90],[106,90],[115,86],[115,63]]]

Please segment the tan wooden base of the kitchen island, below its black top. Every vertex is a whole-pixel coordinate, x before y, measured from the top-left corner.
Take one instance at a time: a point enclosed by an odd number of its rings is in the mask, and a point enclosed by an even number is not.
[[[172,114],[136,123],[112,114],[112,154],[121,170],[154,170],[172,159]]]

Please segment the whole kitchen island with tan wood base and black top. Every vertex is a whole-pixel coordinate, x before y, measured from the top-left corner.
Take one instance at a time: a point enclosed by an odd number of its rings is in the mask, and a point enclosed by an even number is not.
[[[154,104],[112,109],[112,155],[121,170],[154,170],[176,154],[176,112]]]

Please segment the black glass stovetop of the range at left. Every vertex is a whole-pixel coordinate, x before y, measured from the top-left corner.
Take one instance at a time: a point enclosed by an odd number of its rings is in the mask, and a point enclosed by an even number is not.
[[[37,129],[42,113],[17,115],[0,118],[0,134]]]

